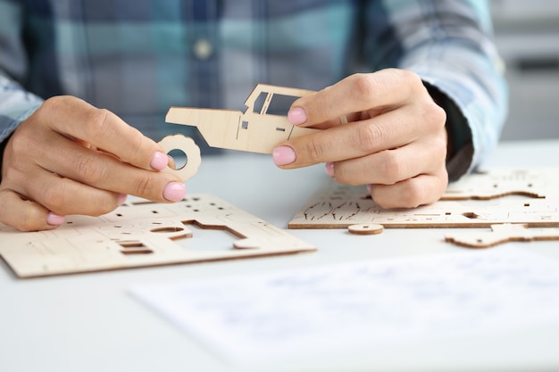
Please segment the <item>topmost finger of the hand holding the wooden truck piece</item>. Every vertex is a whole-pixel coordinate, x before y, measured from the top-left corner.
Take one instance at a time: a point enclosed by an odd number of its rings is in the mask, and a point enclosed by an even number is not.
[[[308,127],[329,120],[336,123],[338,118],[355,112],[384,112],[408,102],[417,88],[425,89],[421,79],[407,70],[355,74],[297,99],[288,112],[288,119],[292,124]]]

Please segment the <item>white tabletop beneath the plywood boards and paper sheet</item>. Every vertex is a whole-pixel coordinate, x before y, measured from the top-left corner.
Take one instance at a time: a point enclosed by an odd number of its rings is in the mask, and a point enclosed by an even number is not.
[[[499,145],[488,167],[559,166],[559,140]],[[285,228],[327,179],[322,166],[281,170],[266,155],[204,157],[188,193],[212,193]],[[440,229],[386,229],[371,240],[339,230],[290,230],[319,250],[280,257],[18,279],[0,261],[0,371],[246,371],[216,358],[129,294],[132,285],[332,262],[453,252]],[[218,232],[219,233],[219,232]],[[0,244],[2,236],[0,236]],[[559,259],[559,242],[513,243]],[[347,358],[290,361],[270,371],[559,370],[559,326],[446,343],[395,345]],[[262,367],[258,368],[262,371]]]

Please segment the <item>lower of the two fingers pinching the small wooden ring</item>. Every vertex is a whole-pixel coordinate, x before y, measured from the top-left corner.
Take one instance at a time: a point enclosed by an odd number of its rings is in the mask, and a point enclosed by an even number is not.
[[[184,188],[184,184],[169,172],[138,169],[63,136],[54,138],[53,142],[52,151],[38,159],[38,165],[63,178],[71,178],[96,189],[133,194],[157,202],[176,202],[184,197],[184,193],[172,194],[173,187]]]

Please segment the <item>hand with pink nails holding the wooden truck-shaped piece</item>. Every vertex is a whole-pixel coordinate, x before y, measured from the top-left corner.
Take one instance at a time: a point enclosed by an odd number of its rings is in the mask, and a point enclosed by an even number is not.
[[[411,71],[352,75],[296,100],[288,119],[326,130],[276,147],[282,169],[326,162],[336,181],[371,185],[382,208],[434,203],[446,190],[446,113]]]

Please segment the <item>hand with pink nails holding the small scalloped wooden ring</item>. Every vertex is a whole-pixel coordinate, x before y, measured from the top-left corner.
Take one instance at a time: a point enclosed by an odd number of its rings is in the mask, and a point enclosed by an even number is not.
[[[71,96],[45,101],[4,150],[0,222],[21,231],[60,226],[64,216],[100,216],[137,195],[178,202],[182,181],[161,172],[168,156],[113,112]]]

